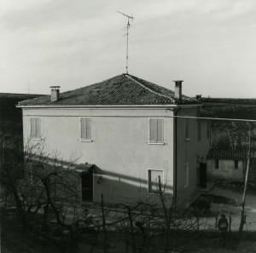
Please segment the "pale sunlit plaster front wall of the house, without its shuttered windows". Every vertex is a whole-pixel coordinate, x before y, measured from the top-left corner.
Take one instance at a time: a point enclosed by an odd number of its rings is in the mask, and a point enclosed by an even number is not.
[[[148,194],[148,170],[163,170],[173,190],[173,112],[166,108],[23,109],[24,140],[40,142],[50,155],[96,164],[94,201],[159,198]],[[30,140],[30,118],[41,118],[42,140]],[[91,142],[80,141],[79,117],[91,118]],[[164,144],[148,144],[148,118],[164,118]]]

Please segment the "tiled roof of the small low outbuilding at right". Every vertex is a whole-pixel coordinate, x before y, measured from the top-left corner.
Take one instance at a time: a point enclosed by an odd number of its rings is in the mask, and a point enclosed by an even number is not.
[[[247,158],[247,150],[245,149],[218,149],[211,148],[208,152],[208,159],[237,159],[243,160]],[[255,153],[251,152],[251,157],[255,157]]]

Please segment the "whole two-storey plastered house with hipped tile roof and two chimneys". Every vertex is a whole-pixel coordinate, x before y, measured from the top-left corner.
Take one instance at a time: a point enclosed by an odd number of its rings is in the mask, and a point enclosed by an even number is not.
[[[210,135],[199,101],[182,95],[182,81],[175,86],[121,74],[61,94],[52,87],[50,96],[20,102],[24,141],[86,164],[81,200],[158,198],[160,176],[180,203],[203,181]]]

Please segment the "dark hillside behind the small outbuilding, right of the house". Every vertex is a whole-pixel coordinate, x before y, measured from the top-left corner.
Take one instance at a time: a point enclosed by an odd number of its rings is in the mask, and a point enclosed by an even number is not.
[[[212,124],[212,146],[224,149],[247,149],[250,130],[251,148],[256,148],[256,99],[202,98],[202,117]],[[243,119],[236,121],[229,119]]]

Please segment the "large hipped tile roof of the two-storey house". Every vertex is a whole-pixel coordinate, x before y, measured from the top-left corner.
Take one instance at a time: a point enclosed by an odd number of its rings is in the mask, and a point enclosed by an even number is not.
[[[183,95],[174,98],[174,92],[130,74],[121,74],[101,83],[61,93],[60,100],[50,101],[50,95],[21,101],[20,106],[107,106],[107,105],[168,105],[199,104]]]

